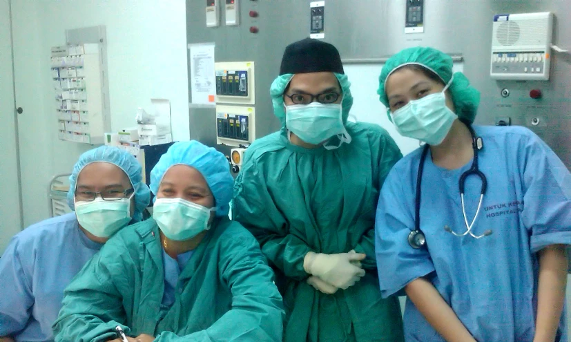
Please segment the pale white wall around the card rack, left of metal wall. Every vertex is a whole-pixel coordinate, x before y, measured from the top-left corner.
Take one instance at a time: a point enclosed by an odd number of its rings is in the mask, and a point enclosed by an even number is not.
[[[41,102],[21,141],[24,227],[48,217],[52,175],[70,172],[79,154],[93,146],[61,142],[52,111],[50,47],[66,43],[65,30],[106,26],[111,129],[135,126],[138,106],[153,97],[171,100],[173,139],[188,140],[186,4],[184,0],[13,0],[17,93]],[[26,82],[18,82],[26,79]],[[25,88],[23,88],[25,87]],[[34,88],[35,91],[30,90]],[[18,96],[17,96],[18,97]]]

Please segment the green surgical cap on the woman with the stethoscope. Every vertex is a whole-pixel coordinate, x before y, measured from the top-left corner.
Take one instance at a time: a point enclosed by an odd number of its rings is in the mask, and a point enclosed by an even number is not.
[[[378,95],[380,102],[387,107],[389,113],[389,99],[385,89],[387,78],[391,73],[405,65],[418,65],[438,75],[444,84],[448,84],[452,79],[452,58],[445,53],[434,48],[407,48],[389,58],[378,77]],[[448,91],[452,94],[452,102],[456,108],[458,118],[474,122],[478,104],[480,103],[480,92],[470,86],[470,82],[463,73],[454,73],[454,79]],[[390,115],[389,115],[390,119]]]

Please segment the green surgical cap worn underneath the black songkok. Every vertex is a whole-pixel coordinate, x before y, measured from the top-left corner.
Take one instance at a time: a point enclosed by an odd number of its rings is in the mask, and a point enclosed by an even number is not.
[[[334,73],[335,77],[339,81],[342,92],[342,118],[343,123],[347,123],[347,117],[349,117],[349,111],[351,106],[353,106],[353,95],[351,95],[351,90],[349,89],[351,83],[347,79],[347,75]],[[280,119],[282,127],[285,127],[285,110],[284,110],[284,91],[287,85],[293,78],[293,74],[280,75],[278,78],[273,80],[270,87],[271,102],[273,104],[273,113]]]

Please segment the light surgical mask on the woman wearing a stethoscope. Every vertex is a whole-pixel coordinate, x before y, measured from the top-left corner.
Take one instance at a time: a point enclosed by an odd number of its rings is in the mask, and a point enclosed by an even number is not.
[[[391,113],[396,131],[404,137],[412,137],[429,145],[441,144],[458,116],[446,106],[445,91],[409,101],[406,106]]]

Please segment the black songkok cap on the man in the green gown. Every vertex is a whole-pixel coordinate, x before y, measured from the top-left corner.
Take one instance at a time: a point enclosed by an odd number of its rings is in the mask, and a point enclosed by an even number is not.
[[[345,74],[339,51],[335,46],[318,39],[306,38],[287,46],[280,75],[319,73]]]

